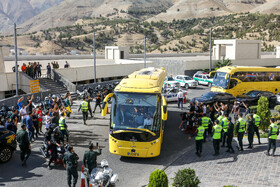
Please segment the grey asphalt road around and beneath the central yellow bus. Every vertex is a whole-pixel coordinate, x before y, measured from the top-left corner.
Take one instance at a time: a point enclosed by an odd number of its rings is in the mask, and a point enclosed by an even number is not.
[[[199,86],[196,89],[188,90],[188,97],[197,97],[207,92],[209,88]],[[90,141],[102,147],[102,155],[98,157],[98,162],[107,159],[109,166],[119,175],[117,186],[143,186],[148,184],[149,175],[154,169],[168,167],[184,150],[188,149],[192,141],[188,141],[188,136],[183,134],[178,126],[180,124],[179,114],[182,110],[177,108],[176,103],[168,104],[168,120],[165,124],[164,142],[160,156],[156,158],[128,158],[113,155],[108,150],[108,124],[109,115],[101,117],[99,109],[93,119],[88,121],[88,125],[82,124],[82,115],[77,112],[79,101],[73,106],[73,115],[67,119],[70,131],[70,143],[79,155],[79,171],[82,165],[84,152],[88,149]],[[92,104],[93,106],[93,104]],[[187,105],[185,109],[187,110]],[[0,186],[67,186],[66,171],[62,166],[53,166],[48,170],[47,162],[41,155],[42,136],[32,143],[32,155],[27,166],[22,167],[19,158],[19,151],[16,151],[10,162],[0,164]],[[80,173],[77,186],[80,185]]]

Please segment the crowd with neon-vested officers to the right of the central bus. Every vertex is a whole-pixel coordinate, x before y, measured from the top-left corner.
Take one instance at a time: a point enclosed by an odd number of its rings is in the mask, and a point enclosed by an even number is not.
[[[256,111],[250,111],[248,104],[246,105],[242,102],[242,110],[244,108],[244,111],[241,112],[241,105],[236,101],[231,108],[228,104],[218,102],[213,105],[206,105],[203,103],[198,104],[196,100],[191,102],[187,98],[186,101],[190,104],[190,109],[180,114],[181,123],[179,128],[185,133],[190,133],[190,139],[195,137],[196,154],[199,157],[202,153],[203,142],[206,142],[208,137],[213,140],[214,156],[220,154],[220,143],[222,144],[221,147],[227,147],[226,152],[235,152],[232,147],[234,134],[237,135],[238,151],[244,151],[243,137],[245,133],[248,134],[248,149],[253,149],[254,134],[258,138],[258,143],[261,144],[259,132],[262,123],[261,117]],[[180,99],[178,100],[178,108],[181,105],[183,104]],[[270,123],[267,137],[268,148],[265,154],[274,156],[280,122],[271,118]],[[273,148],[272,154],[270,154],[271,148]]]

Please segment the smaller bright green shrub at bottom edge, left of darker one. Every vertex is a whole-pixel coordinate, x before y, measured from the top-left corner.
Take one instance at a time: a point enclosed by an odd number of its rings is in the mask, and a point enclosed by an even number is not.
[[[149,178],[148,187],[168,187],[168,178],[163,170],[156,169]]]

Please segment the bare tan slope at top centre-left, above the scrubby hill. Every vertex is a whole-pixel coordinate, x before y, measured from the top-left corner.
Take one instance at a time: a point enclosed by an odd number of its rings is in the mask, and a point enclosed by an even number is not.
[[[81,18],[131,18],[155,15],[172,6],[170,0],[64,0],[21,25],[34,32],[74,24]]]

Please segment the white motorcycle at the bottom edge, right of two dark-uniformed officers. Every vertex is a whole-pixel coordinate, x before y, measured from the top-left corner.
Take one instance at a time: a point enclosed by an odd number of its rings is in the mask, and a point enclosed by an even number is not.
[[[102,168],[102,169],[101,169]],[[88,176],[88,170],[85,168],[84,175],[89,178],[89,186],[92,187],[110,187],[115,186],[119,181],[118,174],[114,174],[113,170],[109,168],[108,161],[103,159],[101,161],[101,168],[94,168]]]

